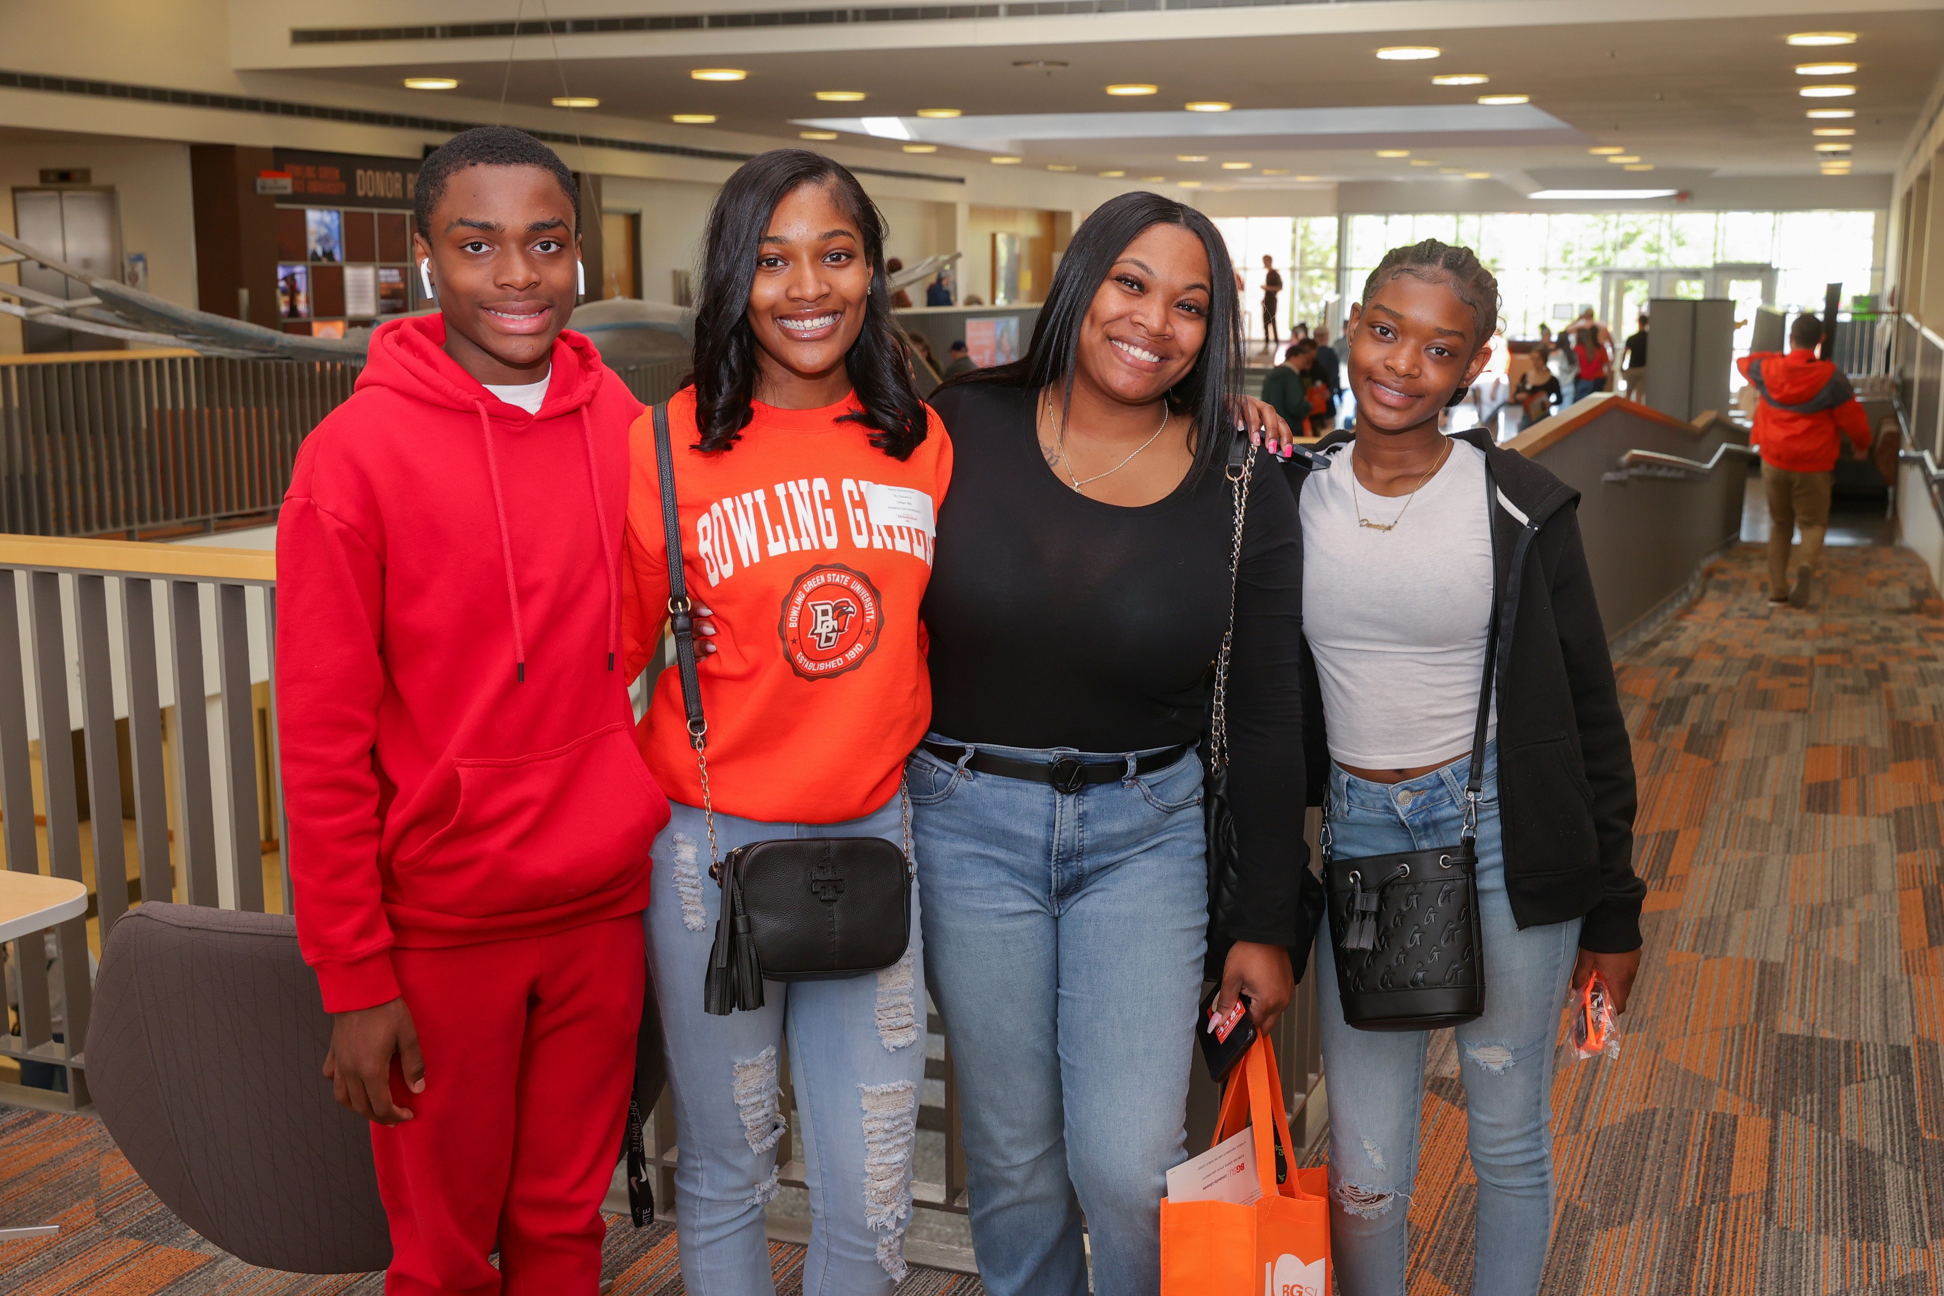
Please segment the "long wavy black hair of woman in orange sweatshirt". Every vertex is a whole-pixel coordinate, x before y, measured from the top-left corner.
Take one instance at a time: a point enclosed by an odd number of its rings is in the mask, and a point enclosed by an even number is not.
[[[869,427],[877,449],[906,459],[925,439],[925,406],[912,387],[910,359],[885,286],[885,216],[844,165],[801,148],[750,157],[710,208],[694,369],[684,379],[696,385],[696,449],[727,451],[748,427],[758,350],[748,326],[748,293],[756,282],[756,258],[776,206],[803,185],[830,190],[830,198],[857,225],[863,258],[871,266],[863,330],[844,356],[863,410],[844,418]]]

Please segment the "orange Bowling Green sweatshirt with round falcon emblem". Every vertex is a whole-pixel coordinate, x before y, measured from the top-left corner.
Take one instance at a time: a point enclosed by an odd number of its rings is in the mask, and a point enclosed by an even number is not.
[[[756,404],[733,449],[696,443],[696,392],[669,400],[688,597],[710,608],[702,657],[710,797],[762,822],[840,824],[898,791],[904,758],[931,723],[918,604],[931,579],[937,507],[953,474],[945,426],[904,462],[871,429],[824,410]],[[628,676],[661,649],[669,565],[653,414],[628,445]],[[669,797],[702,804],[682,684],[671,666],[636,729]]]

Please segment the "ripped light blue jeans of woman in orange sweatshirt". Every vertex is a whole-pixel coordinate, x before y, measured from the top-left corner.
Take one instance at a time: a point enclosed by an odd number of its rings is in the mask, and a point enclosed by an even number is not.
[[[904,1279],[912,1148],[925,1078],[923,942],[912,888],[912,946],[890,968],[830,981],[764,981],[754,1012],[702,1010],[721,888],[710,878],[702,810],[671,804],[655,837],[647,966],[667,1036],[675,1100],[675,1226],[690,1296],[774,1292],[764,1207],[789,1148],[778,1045],[789,1038],[803,1177],[811,1191],[805,1296],[890,1296]],[[760,824],[715,816],[723,855],[776,837],[902,841],[890,802],[848,824]]]

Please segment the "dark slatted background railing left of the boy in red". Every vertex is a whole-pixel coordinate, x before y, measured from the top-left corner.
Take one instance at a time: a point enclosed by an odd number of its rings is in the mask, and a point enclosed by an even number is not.
[[[270,513],[360,365],[140,354],[0,363],[0,532],[99,536]]]

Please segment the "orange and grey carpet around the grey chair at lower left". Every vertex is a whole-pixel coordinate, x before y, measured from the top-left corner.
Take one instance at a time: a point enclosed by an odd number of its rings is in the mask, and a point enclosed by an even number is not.
[[[0,1224],[60,1224],[0,1242],[6,1296],[379,1296],[383,1275],[334,1279],[257,1269],[220,1251],[142,1185],[101,1121],[0,1108]],[[770,1244],[778,1296],[801,1296],[803,1247]],[[608,1218],[612,1296],[682,1296],[675,1230]],[[980,1296],[978,1279],[912,1269],[898,1296]]]

